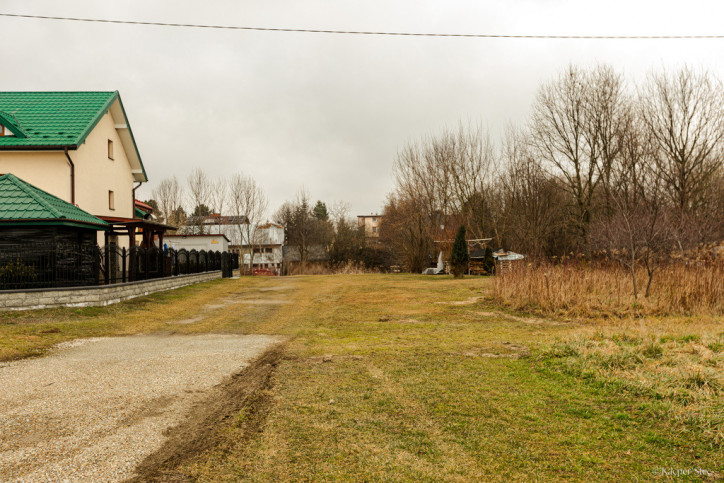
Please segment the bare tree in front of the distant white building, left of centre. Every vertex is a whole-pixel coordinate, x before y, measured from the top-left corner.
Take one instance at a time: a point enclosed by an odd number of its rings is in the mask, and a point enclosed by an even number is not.
[[[267,209],[267,199],[253,178],[235,174],[229,183],[231,209],[241,237],[240,254],[249,254],[249,271],[254,267],[254,251],[259,248],[257,233]]]

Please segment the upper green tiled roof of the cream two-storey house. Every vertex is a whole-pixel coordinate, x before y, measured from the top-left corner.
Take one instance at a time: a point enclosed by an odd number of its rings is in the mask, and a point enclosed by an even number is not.
[[[0,146],[76,148],[117,98],[118,92],[0,92],[0,124],[15,134],[0,137]]]

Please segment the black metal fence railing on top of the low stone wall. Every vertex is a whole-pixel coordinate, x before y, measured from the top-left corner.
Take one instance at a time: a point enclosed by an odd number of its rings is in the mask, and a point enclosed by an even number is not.
[[[134,282],[221,270],[231,277],[239,255],[206,250],[34,243],[0,246],[0,290]]]

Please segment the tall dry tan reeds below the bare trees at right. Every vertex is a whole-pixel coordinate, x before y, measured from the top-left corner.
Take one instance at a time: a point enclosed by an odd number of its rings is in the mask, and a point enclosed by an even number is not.
[[[657,270],[649,297],[646,271],[613,263],[519,263],[496,277],[496,302],[522,309],[577,316],[724,314],[724,260],[678,260]]]

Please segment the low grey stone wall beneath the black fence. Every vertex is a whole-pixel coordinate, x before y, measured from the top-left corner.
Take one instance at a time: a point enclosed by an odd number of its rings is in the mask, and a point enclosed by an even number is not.
[[[0,291],[0,310],[103,306],[221,278],[221,271],[92,287]]]

